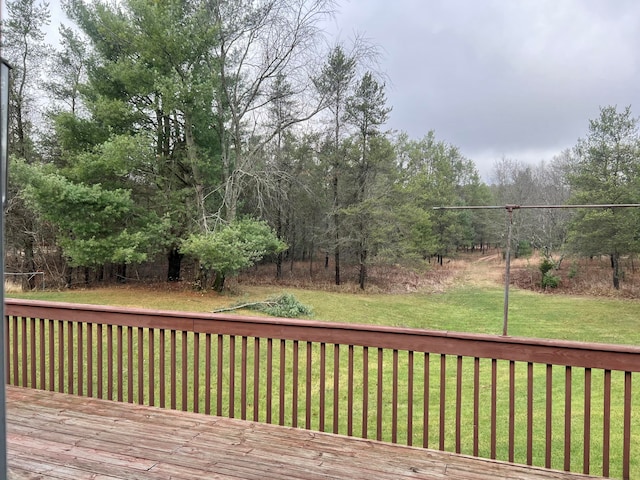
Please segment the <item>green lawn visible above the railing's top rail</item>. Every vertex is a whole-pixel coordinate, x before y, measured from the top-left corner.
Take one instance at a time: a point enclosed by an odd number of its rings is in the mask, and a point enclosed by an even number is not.
[[[314,319],[460,332],[501,334],[502,288],[463,286],[440,294],[351,294],[288,288],[313,307]],[[241,301],[259,301],[283,289],[242,287],[241,294],[166,292],[111,287],[62,292],[10,294],[32,298],[142,308],[212,311]],[[255,312],[237,311],[242,314]],[[640,301],[568,297],[511,289],[509,335],[640,345]]]

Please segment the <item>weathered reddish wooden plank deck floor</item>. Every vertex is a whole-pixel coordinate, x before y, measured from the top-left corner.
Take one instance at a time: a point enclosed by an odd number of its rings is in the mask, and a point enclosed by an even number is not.
[[[15,479],[585,479],[371,440],[7,387]]]

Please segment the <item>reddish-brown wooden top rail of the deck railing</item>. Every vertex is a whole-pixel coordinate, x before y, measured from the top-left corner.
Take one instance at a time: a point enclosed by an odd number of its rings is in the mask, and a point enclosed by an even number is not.
[[[633,345],[12,298],[5,314],[640,372],[640,347]]]

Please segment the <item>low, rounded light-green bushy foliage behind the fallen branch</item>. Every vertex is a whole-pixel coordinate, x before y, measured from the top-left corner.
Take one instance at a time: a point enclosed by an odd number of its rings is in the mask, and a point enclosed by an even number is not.
[[[214,232],[192,234],[182,242],[180,251],[198,259],[204,268],[226,276],[286,247],[266,222],[247,218]]]

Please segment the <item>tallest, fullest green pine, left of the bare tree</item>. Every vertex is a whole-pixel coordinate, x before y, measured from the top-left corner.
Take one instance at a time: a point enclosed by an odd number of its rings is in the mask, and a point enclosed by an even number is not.
[[[147,161],[135,172],[137,200],[169,219],[167,279],[178,280],[181,240],[210,228],[221,198],[212,133],[218,26],[202,1],[127,0],[110,8],[71,0],[67,12],[94,56],[82,89],[89,118],[56,117],[66,163],[114,135],[146,137]]]

